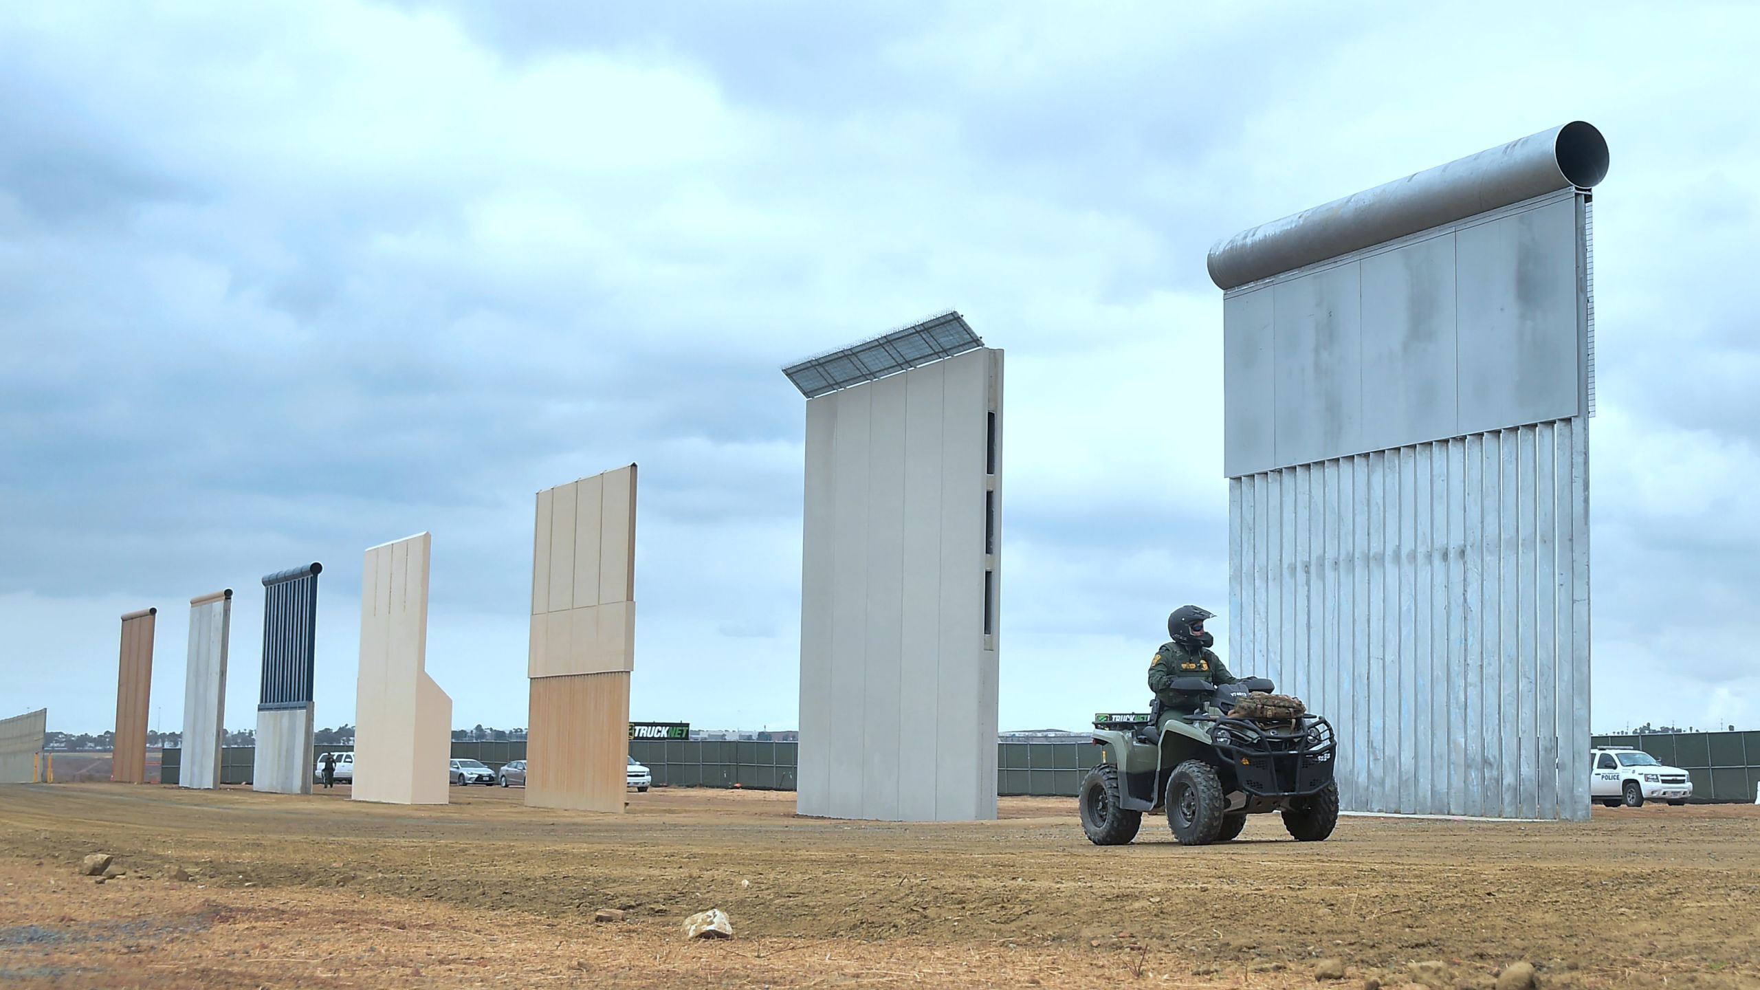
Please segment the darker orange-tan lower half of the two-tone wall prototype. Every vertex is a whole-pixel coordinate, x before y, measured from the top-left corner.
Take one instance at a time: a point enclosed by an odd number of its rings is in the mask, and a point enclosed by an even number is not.
[[[630,675],[591,673],[532,682],[526,803],[621,812],[630,752]]]

